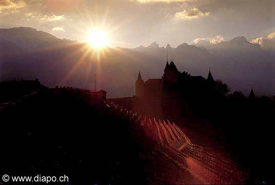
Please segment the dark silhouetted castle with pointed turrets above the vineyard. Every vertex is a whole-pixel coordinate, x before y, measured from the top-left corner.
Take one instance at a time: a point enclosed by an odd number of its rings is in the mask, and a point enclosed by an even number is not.
[[[162,118],[165,115],[181,115],[186,99],[205,97],[215,88],[215,81],[210,68],[207,79],[202,76],[191,76],[186,71],[179,71],[173,60],[164,68],[161,79],[144,81],[139,72],[135,82],[134,109],[145,115]]]

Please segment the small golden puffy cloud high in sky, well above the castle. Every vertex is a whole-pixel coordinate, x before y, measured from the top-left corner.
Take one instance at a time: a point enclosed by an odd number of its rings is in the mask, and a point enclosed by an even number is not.
[[[199,18],[203,16],[208,16],[210,12],[202,12],[198,8],[192,8],[188,10],[183,10],[181,12],[176,12],[174,17],[177,19],[184,19],[184,20],[190,20],[193,18]]]

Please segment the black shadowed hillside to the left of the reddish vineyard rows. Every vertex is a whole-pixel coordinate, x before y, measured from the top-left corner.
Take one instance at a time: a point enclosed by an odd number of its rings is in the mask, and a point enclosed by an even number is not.
[[[154,143],[138,124],[103,102],[43,90],[6,107],[0,117],[1,177],[69,177],[69,182],[57,184],[194,182],[190,174],[152,150]],[[2,183],[23,184],[1,179]]]

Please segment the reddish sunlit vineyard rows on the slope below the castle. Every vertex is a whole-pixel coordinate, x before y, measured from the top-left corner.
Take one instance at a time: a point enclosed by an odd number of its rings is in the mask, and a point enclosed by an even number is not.
[[[148,138],[158,143],[155,150],[171,158],[179,167],[204,184],[245,184],[249,170],[219,154],[208,152],[204,147],[193,144],[184,131],[169,120],[156,120],[151,116],[133,113],[111,101],[107,106],[139,123]]]

